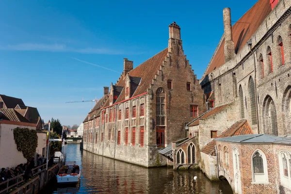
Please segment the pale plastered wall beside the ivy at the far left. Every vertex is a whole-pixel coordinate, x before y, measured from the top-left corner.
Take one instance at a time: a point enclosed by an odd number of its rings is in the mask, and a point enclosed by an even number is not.
[[[27,162],[22,152],[17,150],[14,141],[13,129],[17,127],[36,129],[36,127],[0,123],[0,168],[15,167]]]

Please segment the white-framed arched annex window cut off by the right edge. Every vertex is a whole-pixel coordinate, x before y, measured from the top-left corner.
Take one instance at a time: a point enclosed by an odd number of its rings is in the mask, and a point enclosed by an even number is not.
[[[291,152],[279,153],[281,184],[291,189]]]

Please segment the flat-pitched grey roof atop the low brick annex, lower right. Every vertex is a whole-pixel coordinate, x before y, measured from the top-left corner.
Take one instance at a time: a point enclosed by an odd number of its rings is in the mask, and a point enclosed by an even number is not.
[[[235,143],[281,143],[289,142],[290,138],[278,137],[266,134],[250,134],[250,135],[238,135],[234,137],[219,138],[217,141],[223,142],[235,142]]]

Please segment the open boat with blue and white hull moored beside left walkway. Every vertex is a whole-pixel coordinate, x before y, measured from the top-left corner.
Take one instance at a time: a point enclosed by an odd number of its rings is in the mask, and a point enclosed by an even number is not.
[[[58,184],[77,184],[81,177],[80,166],[76,162],[66,162],[57,174]]]

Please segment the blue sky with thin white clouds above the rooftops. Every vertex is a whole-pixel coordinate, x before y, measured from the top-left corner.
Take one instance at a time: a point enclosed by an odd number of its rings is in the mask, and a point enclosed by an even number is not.
[[[237,21],[257,0],[6,0],[0,6],[0,94],[22,98],[47,122],[80,124],[123,58],[134,67],[168,44],[181,27],[183,49],[201,78],[223,34],[222,11]],[[94,104],[93,104],[94,106]]]

